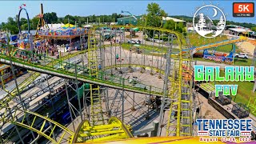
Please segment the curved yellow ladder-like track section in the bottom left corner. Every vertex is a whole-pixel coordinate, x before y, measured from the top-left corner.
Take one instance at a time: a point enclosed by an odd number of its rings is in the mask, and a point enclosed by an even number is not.
[[[32,130],[37,134],[50,140],[53,143],[69,142],[73,141],[74,132],[62,126],[58,122],[54,122],[50,118],[36,114],[27,110],[18,110],[6,106],[0,106],[2,109],[0,123],[12,123],[17,126],[22,126],[28,130]],[[26,117],[33,119],[31,124],[26,122]],[[42,123],[42,124],[40,124]],[[58,130],[62,130],[62,136],[56,137],[54,133],[58,133]]]

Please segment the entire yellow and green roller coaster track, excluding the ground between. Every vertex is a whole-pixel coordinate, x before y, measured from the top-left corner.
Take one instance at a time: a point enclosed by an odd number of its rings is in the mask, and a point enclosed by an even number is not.
[[[58,124],[58,122],[54,122],[45,116],[41,116],[40,114],[35,114],[33,112],[27,110],[17,110],[15,108],[11,108],[8,106],[8,103],[13,100],[13,98],[18,94],[18,90],[10,92],[9,96],[5,97],[5,100],[1,102],[3,117],[1,118],[1,123],[5,124],[6,122],[10,122],[17,126],[25,127],[26,129],[33,130],[36,133],[44,136],[48,140],[54,143],[62,142],[63,139],[67,138],[69,142],[102,142],[108,140],[116,140],[117,138],[132,138],[132,134],[130,134],[129,126],[123,123],[123,120],[120,121],[118,118],[106,118],[103,115],[102,110],[102,101],[104,100],[104,96],[102,96],[102,88],[113,88],[116,90],[126,90],[130,92],[135,92],[139,94],[148,94],[151,96],[159,96],[162,97],[162,106],[160,110],[160,125],[159,125],[159,133],[158,136],[161,135],[162,129],[166,128],[166,135],[176,135],[176,136],[191,136],[193,135],[193,99],[192,99],[192,84],[193,78],[192,74],[192,62],[190,60],[190,54],[193,53],[188,49],[188,45],[186,45],[185,38],[182,37],[182,34],[178,34],[178,32],[173,30],[165,30],[154,27],[147,26],[137,26],[143,32],[147,32],[153,30],[154,33],[158,34],[168,34],[170,46],[167,49],[167,57],[166,57],[166,66],[155,67],[150,64],[133,64],[129,61],[127,64],[114,64],[110,66],[104,66],[102,60],[99,60],[98,50],[104,50],[106,45],[102,43],[102,30],[99,28],[102,26],[95,26],[89,32],[88,37],[88,50],[82,50],[80,52],[74,54],[68,54],[60,59],[48,58],[50,62],[47,64],[42,63],[34,63],[34,62],[26,62],[21,58],[15,58],[14,56],[7,57],[6,55],[0,55],[0,62],[10,64],[14,66],[21,66],[28,70],[36,71],[34,72],[34,77],[30,78],[30,80],[26,80],[22,83],[22,87],[26,86],[28,83],[33,82],[35,78],[37,78],[40,73],[50,74],[54,76],[58,76],[60,78],[73,79],[75,81],[87,82],[90,83],[90,116],[87,117],[88,120],[83,120],[76,132],[67,129],[66,127]],[[118,29],[122,26],[111,26],[110,28]],[[130,26],[131,27],[131,26]],[[116,30],[115,30],[116,32]],[[124,38],[124,34],[120,33],[120,38]],[[123,39],[120,41],[124,41]],[[179,53],[172,52],[173,42],[177,41],[178,43],[178,51]],[[154,42],[152,42],[154,44]],[[116,44],[118,45],[118,44]],[[121,43],[120,43],[121,46]],[[215,46],[215,45],[214,45]],[[112,47],[112,45],[111,45]],[[209,46],[200,49],[207,49]],[[15,48],[13,48],[15,49]],[[112,49],[111,49],[112,50]],[[121,50],[121,49],[120,49]],[[183,53],[182,51],[190,51],[189,53]],[[24,50],[26,51],[26,50]],[[87,53],[86,53],[87,52]],[[102,53],[102,52],[101,52]],[[64,60],[69,59],[71,57],[78,56],[78,54],[87,54],[88,55],[88,67],[89,74],[85,74],[84,66],[74,65],[71,62],[64,62]],[[37,55],[37,54],[35,54]],[[37,55],[38,56],[38,55]],[[115,56],[115,54],[114,54]],[[121,56],[120,56],[121,57]],[[153,56],[152,56],[153,60]],[[99,62],[101,61],[101,62]],[[144,60],[145,61],[145,60]],[[162,62],[162,61],[161,61]],[[57,64],[66,64],[74,67],[73,70],[56,70],[54,67]],[[98,63],[101,63],[102,70],[98,69]],[[158,71],[159,74],[165,75],[164,79],[164,87],[163,89],[147,86],[145,84],[145,88],[138,88],[130,84],[127,79],[119,77],[117,75],[108,74],[106,70],[112,68],[121,68],[121,67],[141,67],[142,69],[148,69]],[[169,69],[170,68],[170,69]],[[22,89],[21,89],[22,90]],[[78,90],[77,90],[78,93]],[[79,99],[79,98],[78,98]],[[105,100],[104,100],[105,101]],[[22,102],[22,100],[21,100]],[[80,102],[79,102],[80,103]],[[81,106],[79,106],[81,111]],[[169,114],[166,116],[163,114],[163,111],[169,111]],[[20,111],[19,113],[17,113]],[[24,114],[24,117],[17,118],[18,114]],[[10,114],[12,113],[12,114]],[[80,113],[82,115],[82,113]],[[13,118],[11,118],[11,116]],[[32,123],[26,120],[27,115],[34,115],[30,119],[33,119]],[[37,118],[42,118],[43,124],[39,128],[33,128],[34,122]],[[22,119],[22,121],[21,121]],[[106,120],[109,119],[109,123],[106,124]],[[166,121],[165,121],[166,120]],[[20,122],[21,121],[21,122]],[[46,123],[51,123],[49,129],[47,129]],[[54,130],[58,127],[63,131],[63,134],[60,138],[54,138]],[[44,130],[50,130],[49,135],[44,133]],[[117,130],[118,129],[118,130]],[[101,132],[95,133],[95,130],[99,130]],[[84,133],[87,134],[84,134]],[[102,137],[102,135],[109,134],[109,136]],[[67,135],[67,136],[66,136]]]

